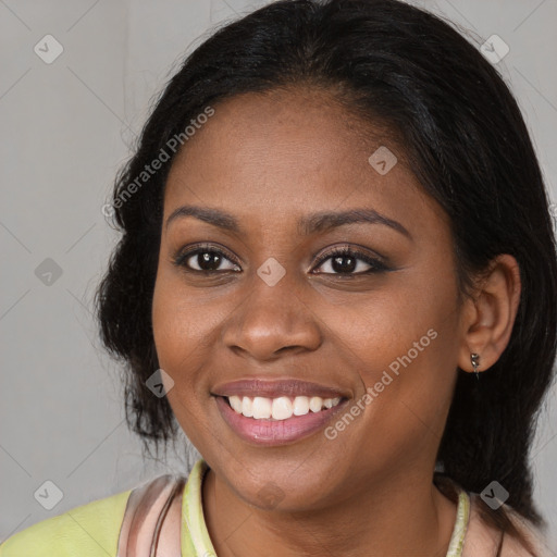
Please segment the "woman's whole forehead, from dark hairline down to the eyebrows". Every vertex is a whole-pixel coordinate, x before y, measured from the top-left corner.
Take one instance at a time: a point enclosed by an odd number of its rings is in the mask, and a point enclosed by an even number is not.
[[[245,94],[213,108],[173,162],[165,218],[185,203],[227,208],[240,220],[259,215],[261,223],[362,205],[399,219],[421,206],[438,210],[388,131],[322,91]],[[387,173],[370,163],[377,152],[394,163]]]

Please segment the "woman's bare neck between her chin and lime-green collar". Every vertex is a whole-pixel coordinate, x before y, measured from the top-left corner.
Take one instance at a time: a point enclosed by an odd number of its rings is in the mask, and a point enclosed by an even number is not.
[[[305,512],[261,510],[238,498],[212,470],[202,500],[219,557],[431,555],[445,557],[456,505],[432,476],[400,475],[357,496]]]

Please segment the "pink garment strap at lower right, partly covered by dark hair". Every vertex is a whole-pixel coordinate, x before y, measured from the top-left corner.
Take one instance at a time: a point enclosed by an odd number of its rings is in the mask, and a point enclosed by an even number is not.
[[[470,518],[465,536],[462,557],[481,557],[500,555],[500,557],[548,557],[550,554],[546,547],[543,533],[532,522],[519,515],[512,507],[503,505],[507,517],[530,545],[530,553],[515,536],[502,531],[495,525],[488,524],[480,512],[480,496],[470,495]],[[503,541],[503,543],[502,543]],[[499,550],[500,544],[500,553]]]

